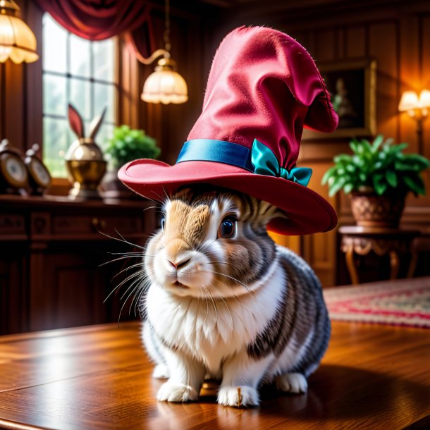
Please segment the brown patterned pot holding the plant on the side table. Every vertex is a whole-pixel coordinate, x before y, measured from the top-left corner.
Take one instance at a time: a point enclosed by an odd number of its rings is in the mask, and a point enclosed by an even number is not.
[[[398,227],[405,208],[405,195],[376,195],[374,192],[355,192],[351,209],[357,226]]]

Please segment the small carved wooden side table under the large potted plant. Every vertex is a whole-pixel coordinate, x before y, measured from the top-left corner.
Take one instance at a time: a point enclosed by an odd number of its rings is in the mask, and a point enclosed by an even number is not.
[[[418,230],[343,226],[339,228],[339,233],[342,235],[340,249],[345,252],[352,283],[360,283],[355,255],[367,255],[371,251],[381,257],[389,255],[390,279],[398,277],[400,257],[409,255],[410,263],[407,269],[407,278],[412,278],[417,266],[417,250],[415,250],[412,241],[419,236]]]

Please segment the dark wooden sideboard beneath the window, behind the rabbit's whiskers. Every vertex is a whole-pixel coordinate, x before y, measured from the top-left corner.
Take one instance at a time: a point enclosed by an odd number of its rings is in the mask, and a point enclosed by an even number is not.
[[[151,205],[1,195],[0,333],[118,320],[127,285],[104,299],[132,271],[113,276],[135,261],[100,265],[133,247],[102,233],[143,245],[154,229]],[[121,321],[130,319],[128,307]]]

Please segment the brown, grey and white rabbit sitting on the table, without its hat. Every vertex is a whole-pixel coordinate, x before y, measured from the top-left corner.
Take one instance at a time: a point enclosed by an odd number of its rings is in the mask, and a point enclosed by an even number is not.
[[[218,403],[231,407],[259,405],[263,383],[307,390],[331,325],[312,269],[266,231],[279,216],[267,202],[219,188],[166,198],[139,302],[153,376],[168,379],[158,400],[198,400],[205,378],[221,381]]]

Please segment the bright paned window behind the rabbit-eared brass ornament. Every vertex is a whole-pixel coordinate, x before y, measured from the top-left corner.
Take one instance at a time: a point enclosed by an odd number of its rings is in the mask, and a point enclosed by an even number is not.
[[[91,42],[65,30],[49,13],[43,16],[43,159],[54,177],[66,176],[64,155],[76,136],[67,118],[68,103],[80,112],[85,133],[107,107],[96,137],[104,147],[116,124],[118,92],[116,38]]]

